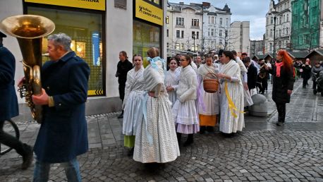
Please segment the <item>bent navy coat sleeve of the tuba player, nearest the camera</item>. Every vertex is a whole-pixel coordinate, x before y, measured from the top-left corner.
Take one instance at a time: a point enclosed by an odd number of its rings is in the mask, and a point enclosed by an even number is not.
[[[70,109],[87,100],[87,81],[89,80],[90,68],[85,61],[78,61],[70,66],[68,75],[69,92],[62,95],[53,95],[55,108],[58,111]]]

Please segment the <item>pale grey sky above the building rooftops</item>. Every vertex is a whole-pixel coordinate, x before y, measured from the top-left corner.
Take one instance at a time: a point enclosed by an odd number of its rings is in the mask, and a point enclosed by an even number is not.
[[[224,8],[225,4],[231,8],[231,22],[250,21],[250,40],[262,40],[266,31],[266,13],[270,0],[169,0],[171,3],[184,2],[202,3],[209,2],[218,8]]]

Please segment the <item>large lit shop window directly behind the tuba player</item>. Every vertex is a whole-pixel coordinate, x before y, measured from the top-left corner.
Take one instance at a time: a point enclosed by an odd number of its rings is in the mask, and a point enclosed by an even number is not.
[[[49,18],[55,23],[52,34],[63,32],[72,39],[71,49],[90,66],[87,94],[104,95],[105,73],[102,48],[102,13],[66,11],[55,8],[28,6],[28,14]],[[47,37],[43,39],[42,52],[47,51]],[[44,57],[43,61],[48,58]]]

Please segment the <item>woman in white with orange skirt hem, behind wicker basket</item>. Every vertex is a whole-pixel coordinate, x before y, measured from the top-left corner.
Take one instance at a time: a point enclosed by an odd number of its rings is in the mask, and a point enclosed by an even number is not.
[[[212,63],[212,54],[205,56],[205,64],[201,64],[198,68],[199,87],[197,91],[197,111],[200,119],[200,133],[205,133],[205,130],[212,132],[213,127],[217,123],[217,114],[219,114],[219,92],[208,93],[203,87],[204,78],[212,78],[216,73],[219,73],[219,64]]]

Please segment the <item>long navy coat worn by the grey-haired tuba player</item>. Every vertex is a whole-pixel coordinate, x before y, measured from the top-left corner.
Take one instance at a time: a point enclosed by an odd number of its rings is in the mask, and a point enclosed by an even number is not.
[[[41,162],[67,162],[88,150],[85,102],[90,68],[74,51],[42,66],[42,87],[54,99],[43,107],[43,120],[35,143]]]

